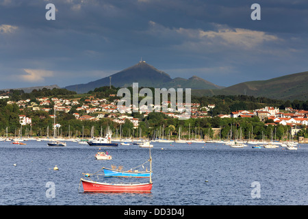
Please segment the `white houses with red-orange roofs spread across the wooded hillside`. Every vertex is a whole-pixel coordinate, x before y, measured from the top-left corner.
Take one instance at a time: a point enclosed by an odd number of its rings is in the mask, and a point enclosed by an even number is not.
[[[110,96],[116,96],[115,94],[110,94]],[[1,96],[0,99],[8,99],[9,96]],[[50,117],[53,118],[53,105],[55,111],[69,113],[74,108],[75,112],[73,115],[77,120],[100,120],[101,118],[110,118],[115,123],[123,124],[125,120],[130,120],[133,123],[133,127],[137,128],[139,125],[139,119],[133,118],[131,113],[133,110],[138,110],[140,114],[144,117],[148,116],[149,110],[146,105],[136,107],[135,105],[130,105],[129,107],[118,107],[119,99],[114,99],[113,101],[108,101],[107,99],[98,99],[94,96],[88,96],[83,103],[79,103],[77,99],[58,99],[57,97],[42,97],[37,98],[36,101],[31,101],[30,99],[19,100],[17,102],[7,101],[7,104],[16,103],[21,110],[19,115],[19,121],[21,125],[31,125],[31,118],[28,118],[23,114],[24,109],[30,109],[32,111],[44,111],[49,112]],[[154,110],[161,109],[163,105],[166,105],[168,112],[164,112],[166,116],[170,118],[181,118],[185,116],[183,114],[183,108],[187,105],[177,105],[176,109],[173,110],[170,107],[170,101],[162,103],[162,105],[151,105]],[[200,103],[191,103],[188,105],[191,110],[190,118],[206,118],[209,117],[209,111],[214,109],[214,104],[209,104],[207,106],[201,107]],[[267,120],[266,125],[289,125],[292,127],[292,135],[296,134],[296,131],[300,130],[297,127],[307,127],[308,126],[308,111],[297,110],[292,107],[286,107],[284,112],[280,112],[279,108],[266,106],[261,109],[256,110],[238,110],[236,112],[231,112],[231,114],[220,114],[220,118],[253,118],[253,116],[259,117],[259,120]],[[186,113],[187,114],[187,113]],[[187,115],[186,115],[187,116]]]

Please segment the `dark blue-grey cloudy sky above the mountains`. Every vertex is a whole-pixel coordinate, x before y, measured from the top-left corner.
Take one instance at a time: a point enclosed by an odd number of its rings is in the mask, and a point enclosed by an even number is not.
[[[0,90],[88,83],[141,58],[232,86],[307,71],[307,57],[307,0],[0,0]]]

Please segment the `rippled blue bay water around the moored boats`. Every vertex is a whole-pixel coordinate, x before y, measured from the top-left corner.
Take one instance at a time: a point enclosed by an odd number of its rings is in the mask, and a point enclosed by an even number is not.
[[[112,160],[97,160],[98,147],[67,142],[50,147],[30,140],[27,145],[0,142],[0,205],[307,205],[308,146],[297,151],[233,149],[222,144],[153,143],[153,189],[150,194],[84,193],[81,172],[101,167],[138,166],[149,149],[138,146],[103,148]],[[16,166],[14,166],[16,164]],[[57,165],[59,171],[53,170]],[[144,165],[144,168],[146,165]],[[126,181],[130,179],[105,179]],[[133,179],[140,181],[140,179]],[[260,198],[251,183],[259,182]],[[55,183],[48,198],[47,182]]]

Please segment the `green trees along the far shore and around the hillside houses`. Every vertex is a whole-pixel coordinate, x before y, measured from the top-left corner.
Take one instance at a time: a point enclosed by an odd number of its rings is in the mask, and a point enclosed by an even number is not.
[[[116,94],[118,88],[103,87],[96,88],[94,91],[89,92],[94,98],[105,97],[110,98],[109,94]],[[25,94],[23,91],[10,92],[10,99],[33,99],[42,96],[63,96],[65,98],[75,97],[75,92],[70,92],[65,89],[53,88],[52,90],[43,88],[42,90],[34,90],[29,94]],[[23,98],[22,98],[23,97]],[[118,98],[118,97],[114,97]],[[0,135],[5,136],[6,130],[8,130],[8,136],[14,136],[19,133],[21,125],[19,123],[19,114],[25,114],[25,116],[31,118],[32,124],[23,127],[23,136],[52,136],[53,131],[53,118],[49,116],[51,112],[31,111],[25,109],[21,111],[16,104],[7,104],[8,99],[0,100]],[[101,130],[103,132],[110,127],[113,135],[123,137],[164,137],[164,138],[177,138],[179,135],[179,129],[181,128],[181,137],[189,138],[251,138],[251,139],[274,139],[283,140],[290,136],[290,126],[283,125],[266,125],[261,122],[257,116],[253,118],[220,118],[218,114],[230,114],[236,110],[255,110],[262,108],[266,105],[279,107],[281,110],[285,107],[293,107],[294,109],[308,110],[308,101],[282,101],[272,100],[262,97],[254,96],[192,96],[192,103],[200,103],[201,107],[209,104],[215,104],[216,107],[212,109],[209,114],[212,117],[208,118],[190,118],[188,120],[178,120],[176,118],[170,118],[163,113],[152,112],[148,116],[144,114],[133,113],[127,114],[138,118],[140,123],[138,128],[134,129],[133,123],[129,120],[125,120],[125,123],[115,123],[110,118],[101,118],[99,121],[92,120],[77,120],[73,116],[73,112],[76,112],[73,108],[68,113],[57,112],[56,123],[61,125],[57,130],[59,135],[63,137],[75,136],[75,137],[90,137],[91,133],[94,136],[99,136]],[[80,103],[82,104],[82,102]],[[108,115],[108,114],[107,114]],[[7,128],[8,127],[8,128]],[[220,131],[218,131],[218,129]],[[30,132],[31,131],[31,132]],[[302,127],[297,136],[304,136],[308,138],[307,128]]]

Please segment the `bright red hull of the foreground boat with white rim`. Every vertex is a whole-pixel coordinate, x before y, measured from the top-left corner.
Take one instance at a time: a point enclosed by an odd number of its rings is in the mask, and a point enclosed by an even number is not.
[[[151,192],[153,183],[110,184],[81,178],[84,192]]]

